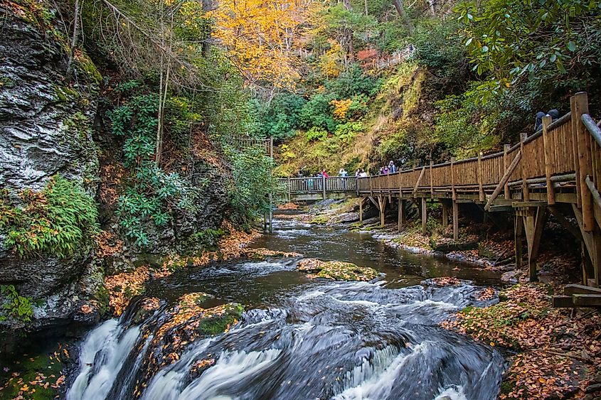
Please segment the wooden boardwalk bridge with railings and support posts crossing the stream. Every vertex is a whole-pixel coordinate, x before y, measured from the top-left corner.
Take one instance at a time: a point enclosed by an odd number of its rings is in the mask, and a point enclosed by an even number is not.
[[[448,163],[412,168],[368,178],[288,178],[289,200],[360,198],[380,212],[398,207],[398,229],[405,223],[405,202],[420,204],[426,231],[427,202],[440,202],[442,224],[452,216],[453,237],[459,234],[459,203],[472,202],[485,212],[514,214],[516,264],[523,256],[531,281],[537,280],[536,259],[546,217],[551,214],[582,244],[583,286],[570,286],[555,296],[555,306],[601,306],[601,129],[588,114],[586,93],[570,99],[570,112],[556,121],[543,119],[543,129],[521,135],[504,151]],[[523,247],[523,237],[526,247]],[[524,254],[525,253],[525,254]]]

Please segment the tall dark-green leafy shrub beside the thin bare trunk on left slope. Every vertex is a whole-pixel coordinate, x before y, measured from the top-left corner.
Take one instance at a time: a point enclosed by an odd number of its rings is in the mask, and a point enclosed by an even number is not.
[[[138,88],[139,85],[129,82],[124,90]],[[112,133],[126,138],[124,166],[131,171],[127,189],[119,197],[119,225],[129,239],[142,247],[150,244],[147,223],[156,227],[166,225],[171,220],[171,207],[197,211],[199,188],[192,187],[178,173],[166,173],[154,161],[158,102],[156,93],[135,94],[109,114]],[[174,136],[188,129],[190,119],[200,119],[191,113],[187,99],[170,97],[166,106],[166,121]]]

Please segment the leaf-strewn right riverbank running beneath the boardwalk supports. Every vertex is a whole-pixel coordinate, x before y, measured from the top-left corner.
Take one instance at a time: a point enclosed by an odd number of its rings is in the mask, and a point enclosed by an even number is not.
[[[501,289],[498,304],[464,308],[445,320],[442,328],[502,349],[508,368],[499,399],[600,398],[599,310],[557,309],[551,303],[553,293],[563,293],[563,286],[572,283],[570,277],[579,268],[573,249],[566,248],[565,239],[562,242],[565,236],[558,225],[550,223],[539,256],[539,275],[546,283],[528,283],[527,271],[516,269],[514,242],[502,229],[464,222],[459,242],[454,243],[450,227],[440,226],[433,218],[427,221],[429,234],[423,235],[415,220],[400,232],[395,221],[385,227],[375,217],[359,223],[357,209],[350,201],[331,202],[307,207],[305,215],[292,218],[369,232],[390,247],[502,272],[504,281],[517,284]],[[453,278],[442,281],[459,284]]]

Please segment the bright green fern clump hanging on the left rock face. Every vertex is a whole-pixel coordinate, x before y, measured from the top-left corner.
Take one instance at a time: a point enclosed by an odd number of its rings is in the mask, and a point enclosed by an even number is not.
[[[98,232],[94,200],[75,182],[55,175],[41,192],[21,193],[24,205],[12,207],[0,199],[0,228],[6,247],[23,258],[47,255],[66,257],[91,243]]]

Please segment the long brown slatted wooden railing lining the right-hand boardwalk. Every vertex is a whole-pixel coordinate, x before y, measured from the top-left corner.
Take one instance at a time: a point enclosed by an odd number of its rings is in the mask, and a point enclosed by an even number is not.
[[[581,95],[586,97],[586,94],[578,94]],[[504,151],[498,153],[486,156],[480,153],[477,157],[464,160],[451,159],[447,163],[360,178],[358,193],[449,192],[453,198],[458,194],[477,194],[479,200],[485,201],[487,195],[498,189],[504,175],[508,175],[503,187],[499,188],[506,198],[509,197],[509,190],[521,188],[522,199],[527,201],[531,185],[546,184],[550,188],[548,202],[553,204],[553,183],[573,181],[575,172],[579,170],[578,137],[573,127],[573,113],[569,112],[552,123],[549,117],[543,121],[541,131],[531,136],[523,134],[518,144],[505,145]],[[592,119],[587,124],[595,125]],[[512,161],[518,155],[521,159],[514,163],[517,168],[510,171]],[[601,162],[598,151],[595,157],[595,165],[598,166]],[[601,172],[598,173],[601,175]]]

